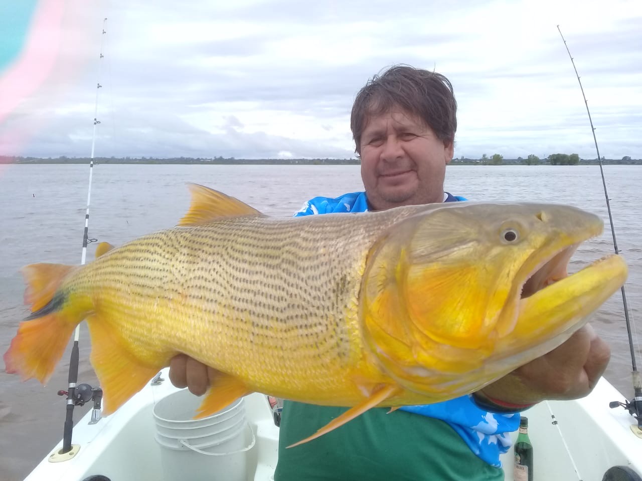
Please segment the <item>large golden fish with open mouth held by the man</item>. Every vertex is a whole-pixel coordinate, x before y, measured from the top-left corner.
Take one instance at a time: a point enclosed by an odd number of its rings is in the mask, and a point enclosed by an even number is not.
[[[31,316],[6,370],[46,382],[87,319],[114,412],[177,353],[212,366],[200,416],[239,396],[352,407],[476,391],[559,346],[625,282],[618,255],[571,276],[596,215],[563,205],[444,203],[266,217],[191,185],[179,225],[87,266],[24,268]]]

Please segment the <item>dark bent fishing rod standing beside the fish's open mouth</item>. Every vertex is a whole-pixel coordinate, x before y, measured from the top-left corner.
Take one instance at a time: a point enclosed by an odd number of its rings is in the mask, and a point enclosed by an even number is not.
[[[560,30],[560,26],[557,26],[557,31],[560,33],[560,37],[562,37],[562,40],[564,41],[564,46],[566,47],[566,51],[568,52],[569,58],[571,58],[571,63],[573,63],[573,69],[575,70],[575,76],[577,76],[577,81],[580,83],[580,90],[582,90],[582,97],[584,97],[584,104],[586,105],[586,112],[589,115],[589,122],[591,124],[591,131],[593,132],[593,142],[595,143],[595,150],[597,151],[598,154],[598,164],[600,165],[600,173],[602,173],[602,185],[604,187],[604,196],[606,198],[606,207],[609,212],[609,222],[611,223],[611,234],[613,236],[613,248],[615,249],[615,253],[617,255],[620,255],[620,249],[618,249],[618,241],[616,240],[615,237],[615,228],[613,226],[613,215],[611,214],[611,203],[609,201],[609,193],[606,188],[606,181],[604,178],[604,169],[602,166],[602,157],[600,156],[600,148],[598,148],[598,140],[597,137],[595,136],[595,127],[593,126],[593,119],[591,119],[591,111],[589,110],[589,103],[586,100],[586,94],[584,94],[584,87],[582,87],[582,81],[580,80],[580,74],[577,72],[577,67],[575,67],[575,60],[573,60],[573,56],[571,55],[571,51],[568,48],[568,44],[566,44],[566,39],[564,38],[564,35],[562,35],[562,31]],[[636,366],[636,353],[635,349],[633,346],[633,336],[631,333],[631,323],[629,319],[629,307],[627,305],[627,293],[624,289],[624,284],[622,284],[621,287],[621,292],[622,292],[622,303],[624,305],[624,317],[627,323],[627,334],[629,335],[629,349],[631,353],[631,366],[632,366],[632,381],[633,381],[633,389],[634,389],[634,398],[630,401],[627,401],[627,403],[621,403],[620,401],[613,401],[610,406],[612,408],[614,407],[623,407],[629,411],[631,416],[637,419],[638,421],[638,428],[642,429],[642,382],[640,379],[640,373],[638,371],[638,367]]]

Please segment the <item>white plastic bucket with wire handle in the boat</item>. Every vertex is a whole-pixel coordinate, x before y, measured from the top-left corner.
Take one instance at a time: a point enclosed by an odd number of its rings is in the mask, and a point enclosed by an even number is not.
[[[245,400],[236,400],[207,418],[193,419],[202,401],[182,389],[154,406],[165,480],[245,481],[247,453],[256,444],[245,420]]]

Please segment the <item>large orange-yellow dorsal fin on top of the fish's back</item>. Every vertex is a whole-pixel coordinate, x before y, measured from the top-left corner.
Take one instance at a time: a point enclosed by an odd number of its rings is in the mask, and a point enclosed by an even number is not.
[[[196,183],[187,184],[192,194],[192,202],[187,214],[180,221],[179,226],[198,226],[225,217],[240,217],[241,215],[263,216],[254,207],[239,201],[223,192],[209,189]]]

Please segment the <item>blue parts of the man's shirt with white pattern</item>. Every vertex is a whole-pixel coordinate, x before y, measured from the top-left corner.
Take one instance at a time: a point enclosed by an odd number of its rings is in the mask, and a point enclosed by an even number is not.
[[[444,192],[444,202],[465,200],[463,197]],[[351,192],[334,199],[310,199],[294,216],[367,211],[368,201],[365,192]],[[497,468],[501,468],[499,455],[508,452],[512,444],[510,432],[519,428],[519,414],[496,414],[480,409],[470,395],[440,403],[404,406],[400,409],[442,419],[462,437],[473,453]]]

